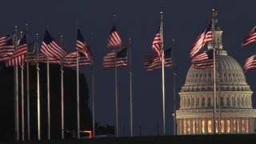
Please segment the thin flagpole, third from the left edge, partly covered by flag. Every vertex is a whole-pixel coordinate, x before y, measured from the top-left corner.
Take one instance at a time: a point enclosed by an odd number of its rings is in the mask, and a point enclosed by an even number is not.
[[[26,39],[28,40],[29,26],[26,23]],[[27,41],[26,41],[26,45]],[[26,54],[28,55],[28,54]],[[30,62],[26,61],[26,120],[27,120],[27,140],[30,141]]]

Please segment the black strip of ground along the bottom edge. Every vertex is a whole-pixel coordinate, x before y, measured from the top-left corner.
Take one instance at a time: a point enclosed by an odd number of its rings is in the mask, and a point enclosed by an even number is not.
[[[115,144],[115,143],[168,143],[168,144],[185,144],[185,143],[256,143],[256,134],[220,134],[220,135],[188,135],[188,136],[143,136],[134,138],[92,138],[92,139],[68,139],[68,140],[51,140],[51,141],[30,141],[30,142],[0,142],[0,144],[22,143],[22,144]]]

